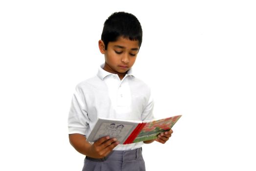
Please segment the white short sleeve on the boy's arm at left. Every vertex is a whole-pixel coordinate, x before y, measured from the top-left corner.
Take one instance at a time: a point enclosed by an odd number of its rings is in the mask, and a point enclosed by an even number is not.
[[[68,118],[69,134],[86,135],[89,125],[85,96],[81,87],[77,86],[72,96]]]

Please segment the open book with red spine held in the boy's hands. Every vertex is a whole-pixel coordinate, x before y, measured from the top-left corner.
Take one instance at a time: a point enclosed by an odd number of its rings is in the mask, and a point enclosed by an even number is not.
[[[157,136],[170,130],[182,115],[153,121],[131,121],[98,118],[88,142],[95,142],[104,136],[116,138],[120,144],[131,144],[156,139]]]

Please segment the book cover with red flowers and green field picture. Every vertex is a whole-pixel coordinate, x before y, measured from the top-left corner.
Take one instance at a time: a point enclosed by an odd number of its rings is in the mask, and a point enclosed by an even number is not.
[[[174,124],[180,119],[181,116],[182,115],[178,115],[152,122],[147,122],[146,125],[141,129],[139,135],[135,138],[133,143],[156,139],[158,134],[170,130],[174,126]]]

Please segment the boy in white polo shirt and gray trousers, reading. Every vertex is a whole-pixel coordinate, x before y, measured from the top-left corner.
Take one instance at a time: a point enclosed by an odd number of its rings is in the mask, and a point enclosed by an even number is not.
[[[69,114],[70,144],[86,155],[83,171],[145,171],[143,142],[119,145],[116,138],[86,141],[98,117],[128,120],[153,119],[149,87],[132,74],[142,42],[138,19],[129,13],[112,14],[104,23],[99,50],[105,56],[95,77],[76,86]],[[153,141],[165,143],[172,130]]]

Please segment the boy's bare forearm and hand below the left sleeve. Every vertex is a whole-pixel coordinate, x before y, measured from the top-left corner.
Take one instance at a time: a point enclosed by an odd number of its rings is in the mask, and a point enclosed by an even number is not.
[[[118,144],[116,138],[102,137],[93,144],[86,141],[86,137],[79,133],[69,134],[70,144],[78,152],[92,158],[106,157]]]

